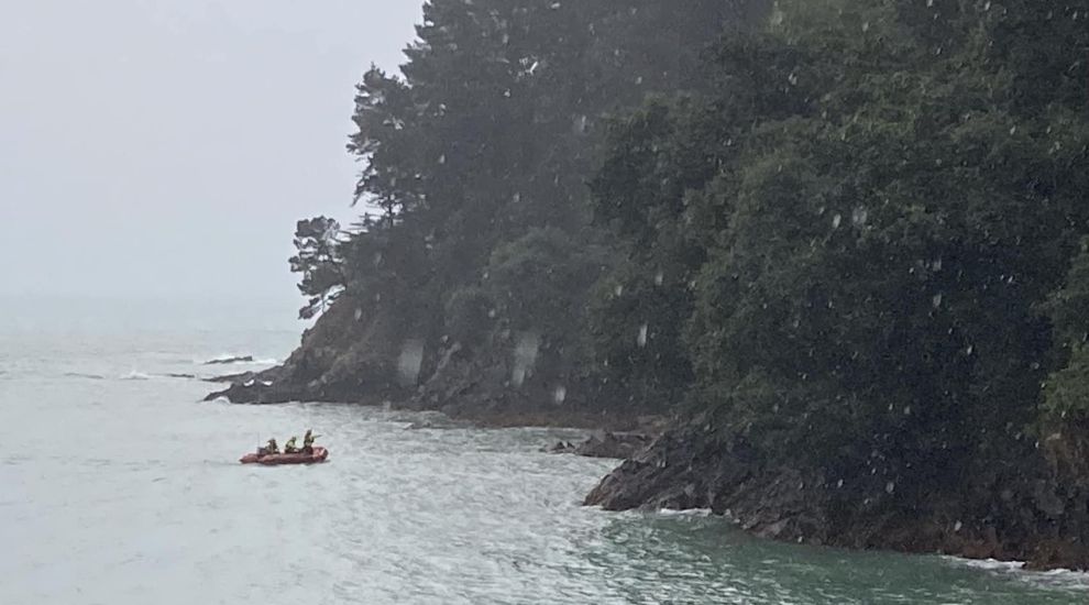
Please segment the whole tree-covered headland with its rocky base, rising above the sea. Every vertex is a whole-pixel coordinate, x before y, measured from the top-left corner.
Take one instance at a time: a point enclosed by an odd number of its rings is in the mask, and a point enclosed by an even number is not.
[[[1089,0],[433,0],[235,400],[669,415],[591,494],[1089,566]]]

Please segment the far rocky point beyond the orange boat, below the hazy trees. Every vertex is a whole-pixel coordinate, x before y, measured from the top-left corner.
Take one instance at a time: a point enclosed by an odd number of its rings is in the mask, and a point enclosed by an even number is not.
[[[543,377],[510,384],[515,360],[503,354],[469,352],[458,344],[418,360],[405,380],[398,367],[405,341],[392,320],[356,315],[353,301],[338,300],[302,334],[300,345],[283,364],[227,374],[209,382],[226,385],[205,397],[234,404],[288,402],[384,405],[407,410],[441,411],[451,419],[484,427],[564,427],[610,432],[660,435],[669,420],[630,408],[596,405],[590,388],[571,385],[558,397]],[[498,348],[497,348],[498,349]],[[502,350],[502,349],[501,349]]]

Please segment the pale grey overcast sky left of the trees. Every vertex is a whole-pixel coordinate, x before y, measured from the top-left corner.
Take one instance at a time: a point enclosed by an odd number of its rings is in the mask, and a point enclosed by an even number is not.
[[[0,2],[0,295],[297,306],[295,221],[358,215],[353,85],[421,3]]]

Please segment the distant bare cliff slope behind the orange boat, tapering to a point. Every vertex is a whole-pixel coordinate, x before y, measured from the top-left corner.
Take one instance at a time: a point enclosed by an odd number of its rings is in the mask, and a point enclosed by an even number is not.
[[[369,315],[342,297],[282,365],[224,377],[230,386],[206,400],[391,402],[490,426],[660,431],[661,418],[609,406],[595,381],[553,367],[549,360],[557,354],[536,336],[493,330],[483,342],[464,345],[405,333],[395,312]]]

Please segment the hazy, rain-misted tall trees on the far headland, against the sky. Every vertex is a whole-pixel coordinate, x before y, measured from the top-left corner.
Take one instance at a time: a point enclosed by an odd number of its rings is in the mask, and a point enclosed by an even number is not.
[[[592,293],[627,246],[592,221],[601,120],[700,82],[705,50],[761,3],[427,2],[403,77],[372,68],[358,87],[349,151],[371,213],[337,248],[345,304],[426,342],[424,380],[455,345],[509,359],[532,334],[544,382],[605,403]],[[334,285],[304,274],[309,316]]]

